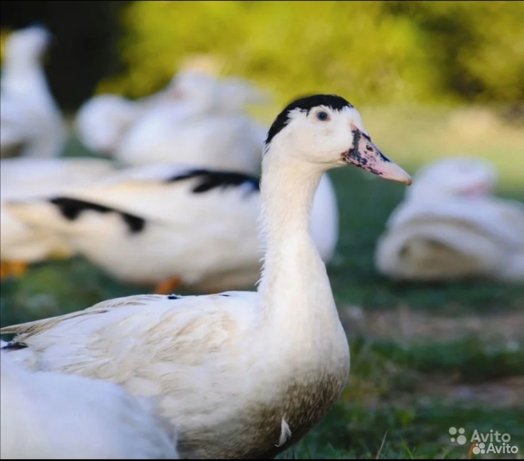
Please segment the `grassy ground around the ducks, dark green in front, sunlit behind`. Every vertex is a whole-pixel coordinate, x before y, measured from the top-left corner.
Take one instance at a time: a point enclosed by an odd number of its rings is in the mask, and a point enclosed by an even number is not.
[[[522,199],[524,132],[493,112],[362,112],[374,141],[409,171],[444,154],[478,155],[499,169],[499,194]],[[70,155],[81,152],[71,144]],[[281,457],[468,457],[470,443],[451,443],[450,426],[464,427],[466,435],[475,429],[507,432],[522,452],[524,327],[516,327],[524,326],[522,286],[475,280],[399,284],[379,276],[374,245],[404,188],[352,168],[333,171],[332,178],[341,235],[329,274],[348,327],[351,378],[325,419]],[[8,325],[58,315],[149,290],[115,283],[80,257],[52,261],[31,267],[19,280],[2,281],[0,320]],[[379,325],[384,315],[386,327]],[[410,325],[419,322],[414,333],[399,327],[405,317]],[[362,325],[355,329],[357,320]]]

